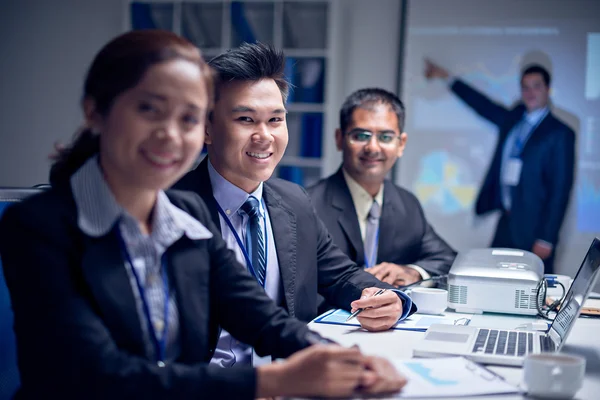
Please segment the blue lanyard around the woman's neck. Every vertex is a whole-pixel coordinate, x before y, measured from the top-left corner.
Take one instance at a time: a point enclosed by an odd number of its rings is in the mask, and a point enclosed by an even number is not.
[[[135,278],[135,283],[138,287],[138,291],[140,292],[140,298],[142,300],[142,309],[144,310],[144,314],[146,317],[146,321],[148,322],[148,332],[150,333],[150,338],[154,344],[154,350],[156,353],[156,358],[158,361],[158,366],[164,366],[164,360],[166,356],[166,348],[167,348],[167,333],[169,330],[169,283],[167,282],[167,263],[165,259],[165,255],[161,259],[161,278],[163,282],[163,290],[165,293],[165,310],[164,310],[164,324],[162,334],[160,335],[160,339],[158,338],[157,332],[154,329],[154,324],[152,323],[152,316],[150,314],[150,306],[148,304],[148,299],[146,298],[146,290],[142,285],[142,281],[138,276],[135,268],[133,266],[133,261],[131,260],[131,256],[129,251],[127,251],[127,246],[125,245],[125,241],[121,234],[119,236],[119,243],[121,244],[121,251],[126,258],[127,263],[131,267],[131,273]]]

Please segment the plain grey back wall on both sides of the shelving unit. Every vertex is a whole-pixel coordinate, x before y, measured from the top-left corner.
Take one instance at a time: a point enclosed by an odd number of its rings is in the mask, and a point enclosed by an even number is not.
[[[335,1],[324,174],[340,156],[333,142],[337,111],[352,91],[397,87],[399,0]],[[81,124],[82,81],[95,52],[124,26],[122,0],[20,0],[0,13],[0,186],[47,181],[54,143]]]

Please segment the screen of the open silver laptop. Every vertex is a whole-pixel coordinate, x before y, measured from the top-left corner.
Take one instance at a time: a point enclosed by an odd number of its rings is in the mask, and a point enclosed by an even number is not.
[[[594,287],[598,276],[598,266],[600,266],[600,240],[596,238],[583,259],[560,311],[556,314],[550,327],[550,336],[557,338],[559,344],[563,343],[575,320],[579,317],[581,307]]]

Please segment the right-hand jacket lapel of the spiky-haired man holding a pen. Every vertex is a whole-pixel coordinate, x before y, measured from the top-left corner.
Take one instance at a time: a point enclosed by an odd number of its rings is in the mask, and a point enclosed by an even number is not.
[[[287,309],[291,316],[295,316],[294,293],[296,293],[296,260],[298,259],[296,215],[268,182],[263,186],[263,198],[269,211]]]

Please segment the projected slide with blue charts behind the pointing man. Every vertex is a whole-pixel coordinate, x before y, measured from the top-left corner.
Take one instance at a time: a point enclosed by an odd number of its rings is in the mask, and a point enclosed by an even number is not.
[[[507,108],[519,101],[525,66],[549,69],[552,111],[577,133],[574,225],[600,232],[600,1],[412,0],[407,15],[401,95],[409,139],[399,182],[436,230],[470,242],[465,216],[474,213],[498,128],[449,82],[427,81],[425,59]]]

